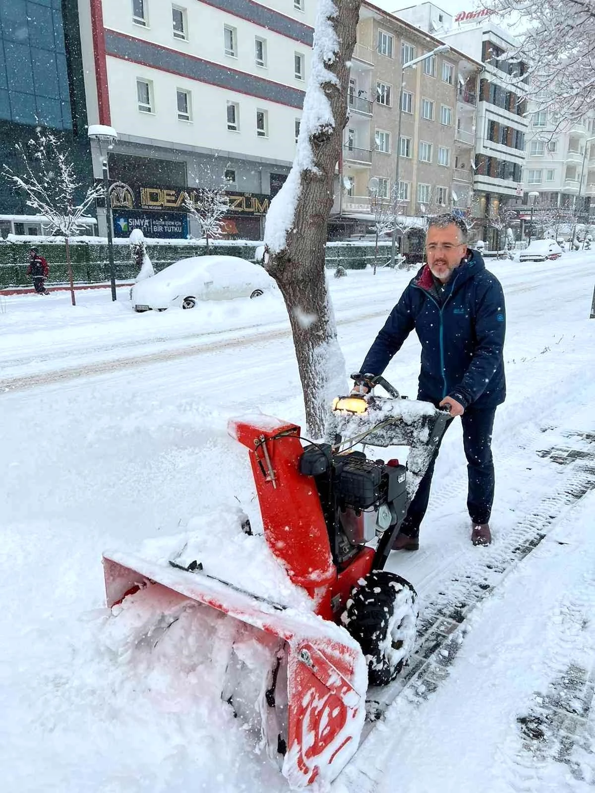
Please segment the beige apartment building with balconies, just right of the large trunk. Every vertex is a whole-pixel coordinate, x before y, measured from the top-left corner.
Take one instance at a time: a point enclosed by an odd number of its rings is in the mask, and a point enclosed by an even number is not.
[[[402,69],[441,44],[393,14],[362,5],[333,207],[338,231],[361,232],[374,224],[378,207],[390,207],[396,197],[398,213],[413,227],[441,209],[469,207],[482,63],[451,49]]]

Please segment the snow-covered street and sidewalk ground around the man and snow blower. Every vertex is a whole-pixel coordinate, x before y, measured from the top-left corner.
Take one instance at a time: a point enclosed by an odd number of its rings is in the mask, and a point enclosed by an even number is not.
[[[493,546],[469,542],[455,426],[420,550],[392,554],[390,569],[415,584],[422,626],[457,609],[466,619],[454,620],[430,672],[410,678],[334,793],[595,783],[595,255],[489,269],[508,308]],[[409,278],[330,279],[347,370]],[[258,527],[245,450],[226,424],[255,408],[303,419],[282,300],[146,314],[132,312],[127,289],[115,304],[109,289],[69,301],[0,305],[2,789],[286,791],[213,690],[205,646],[216,629],[190,620],[155,652],[129,652],[106,615],[101,565],[106,548],[136,551],[236,509],[236,496]],[[411,338],[386,376],[414,396],[418,366]]]

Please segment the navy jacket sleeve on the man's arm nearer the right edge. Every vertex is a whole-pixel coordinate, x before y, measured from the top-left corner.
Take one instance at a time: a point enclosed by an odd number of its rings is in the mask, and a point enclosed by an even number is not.
[[[473,358],[463,380],[448,394],[467,408],[489,385],[502,362],[506,332],[504,293],[500,282],[493,281],[479,298],[475,315]]]

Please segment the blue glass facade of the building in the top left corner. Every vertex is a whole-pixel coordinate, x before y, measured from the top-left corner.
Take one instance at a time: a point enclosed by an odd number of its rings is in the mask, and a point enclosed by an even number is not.
[[[0,2],[0,120],[72,129],[62,0]]]

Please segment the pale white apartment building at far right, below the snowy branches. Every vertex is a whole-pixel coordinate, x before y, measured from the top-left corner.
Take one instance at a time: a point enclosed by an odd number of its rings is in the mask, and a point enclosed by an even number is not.
[[[533,199],[542,206],[578,203],[581,220],[588,220],[595,196],[595,113],[561,123],[556,113],[531,105],[529,111],[523,203]],[[528,201],[530,192],[539,197]]]

